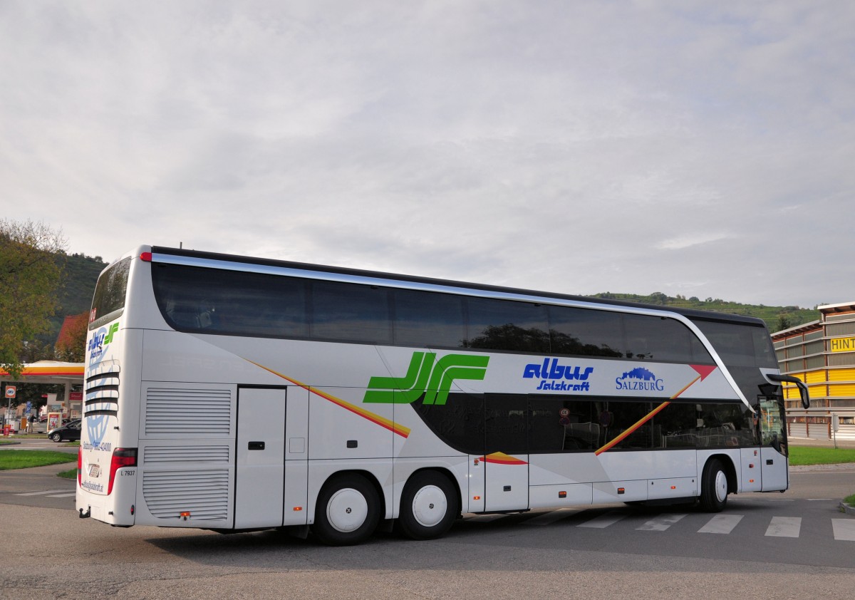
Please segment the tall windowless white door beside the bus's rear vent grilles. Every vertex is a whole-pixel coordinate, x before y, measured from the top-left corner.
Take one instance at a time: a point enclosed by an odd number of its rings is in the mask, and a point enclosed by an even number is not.
[[[285,388],[238,390],[234,527],[282,525]]]

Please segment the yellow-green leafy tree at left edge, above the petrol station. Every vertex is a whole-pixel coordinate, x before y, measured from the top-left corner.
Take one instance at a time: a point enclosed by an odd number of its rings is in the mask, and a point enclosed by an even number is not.
[[[0,219],[0,368],[21,376],[24,340],[46,331],[56,310],[62,230]]]

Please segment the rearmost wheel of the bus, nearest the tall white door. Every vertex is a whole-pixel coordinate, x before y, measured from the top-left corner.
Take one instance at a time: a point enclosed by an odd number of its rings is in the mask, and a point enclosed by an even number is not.
[[[318,495],[312,532],[324,544],[362,544],[380,523],[380,496],[358,474],[335,475]]]

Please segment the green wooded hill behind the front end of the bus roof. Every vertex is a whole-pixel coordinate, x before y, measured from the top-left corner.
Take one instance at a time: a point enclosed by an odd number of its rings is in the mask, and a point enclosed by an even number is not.
[[[670,297],[661,291],[654,291],[648,296],[639,294],[613,294],[606,291],[593,294],[595,298],[607,298],[611,300],[625,300],[627,302],[639,302],[645,304],[658,304],[675,309],[711,310],[716,313],[729,313],[730,315],[746,315],[758,317],[766,321],[769,332],[779,332],[781,329],[802,325],[819,319],[819,311],[816,309],[800,309],[798,306],[765,306],[764,304],[740,304],[728,302],[721,298],[706,298],[700,300],[697,297],[686,298],[680,296]]]

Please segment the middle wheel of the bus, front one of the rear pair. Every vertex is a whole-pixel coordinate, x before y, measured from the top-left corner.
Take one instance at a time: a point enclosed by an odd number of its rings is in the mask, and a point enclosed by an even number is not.
[[[439,538],[459,513],[460,498],[451,480],[436,471],[422,471],[404,485],[398,528],[410,539]]]

